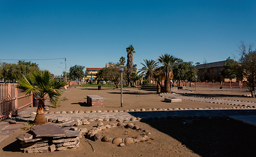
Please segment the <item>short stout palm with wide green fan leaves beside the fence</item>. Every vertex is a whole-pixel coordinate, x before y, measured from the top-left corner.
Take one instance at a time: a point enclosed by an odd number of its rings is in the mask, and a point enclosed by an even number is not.
[[[18,80],[18,88],[26,95],[31,92],[39,96],[39,104],[34,124],[44,124],[45,120],[45,99],[49,97],[51,102],[56,101],[62,94],[62,88],[66,82],[62,79],[54,78],[49,71],[33,71],[27,76],[23,76]]]

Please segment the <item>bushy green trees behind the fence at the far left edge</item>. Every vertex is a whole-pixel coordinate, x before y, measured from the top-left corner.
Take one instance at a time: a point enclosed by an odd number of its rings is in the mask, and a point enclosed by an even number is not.
[[[15,63],[2,63],[0,68],[0,77],[7,82],[15,82],[32,71],[39,71],[39,67],[36,63],[30,61],[18,61]]]

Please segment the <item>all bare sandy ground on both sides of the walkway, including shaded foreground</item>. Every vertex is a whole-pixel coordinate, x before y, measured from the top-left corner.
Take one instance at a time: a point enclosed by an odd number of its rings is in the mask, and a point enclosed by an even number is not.
[[[191,89],[193,90],[193,89]],[[255,101],[255,98],[240,97],[244,91],[198,89],[192,94],[247,99]],[[247,94],[247,93],[246,93]],[[104,99],[104,107],[88,107],[86,102],[87,95],[98,95]],[[165,103],[163,97],[157,94],[137,94],[135,92],[124,92],[123,107],[120,105],[119,90],[110,88],[69,88],[64,92],[62,101],[57,109],[50,107],[50,111],[74,111],[74,110],[125,110],[125,109],[148,109],[148,108],[195,108],[195,107],[227,107],[230,105],[215,103],[200,103],[196,101],[182,101],[182,103]],[[232,106],[234,107],[234,106]],[[150,137],[154,139],[144,143],[132,144],[125,147],[103,142],[90,141],[95,149],[92,151],[91,145],[83,136],[79,148],[74,150],[62,150],[58,152],[43,154],[24,154],[19,150],[19,143],[16,136],[22,130],[16,130],[5,141],[0,143],[0,156],[255,156],[256,127],[243,124],[226,118],[221,119],[192,119],[193,124],[184,124],[186,119],[151,120],[146,122],[133,122],[151,132]],[[108,122],[104,122],[107,124]],[[88,130],[96,126],[92,122],[85,127]],[[118,131],[118,133],[116,133]],[[110,137],[124,134],[123,130],[109,131]],[[121,134],[120,134],[121,133]],[[135,133],[136,134],[136,133]],[[127,137],[134,134],[128,134]],[[125,136],[125,135],[123,135]]]

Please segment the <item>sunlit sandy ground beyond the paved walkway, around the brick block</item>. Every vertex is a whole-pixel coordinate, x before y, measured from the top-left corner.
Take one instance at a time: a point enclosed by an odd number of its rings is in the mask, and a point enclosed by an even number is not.
[[[129,92],[124,88],[123,92],[123,107],[121,105],[121,95],[120,90],[113,90],[112,88],[104,88],[102,90],[97,90],[96,87],[87,88],[68,88],[64,92],[60,99],[66,98],[67,100],[62,101],[58,104],[58,107],[54,109],[50,105],[50,111],[104,111],[104,110],[127,110],[127,109],[149,109],[149,108],[205,108],[205,107],[226,107],[231,108],[234,106],[224,105],[224,104],[212,104],[212,103],[202,103],[198,101],[182,100],[182,103],[165,103],[164,98],[158,96],[156,93],[144,92],[141,90],[134,90],[135,92]],[[133,89],[132,89],[133,90]],[[194,88],[188,88],[188,90],[194,90]],[[247,101],[255,101],[255,98],[241,97],[242,94],[248,93],[244,91],[232,90],[217,90],[217,89],[198,89],[192,92],[191,95],[198,95],[204,97],[219,97],[222,99],[247,99]],[[89,107],[86,103],[88,95],[98,95],[104,97],[104,107]]]

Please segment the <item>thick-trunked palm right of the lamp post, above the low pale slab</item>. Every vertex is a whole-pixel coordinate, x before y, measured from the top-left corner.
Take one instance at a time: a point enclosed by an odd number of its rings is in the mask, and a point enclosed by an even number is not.
[[[171,92],[170,80],[173,79],[173,67],[177,60],[177,58],[170,54],[161,55],[158,58],[158,61],[163,64],[159,69],[163,79],[165,80],[164,92]]]

